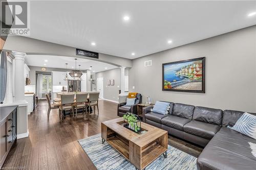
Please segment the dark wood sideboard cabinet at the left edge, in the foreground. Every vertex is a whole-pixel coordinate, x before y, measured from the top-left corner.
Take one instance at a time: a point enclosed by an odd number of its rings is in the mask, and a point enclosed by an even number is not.
[[[17,106],[0,107],[0,169],[17,139]]]

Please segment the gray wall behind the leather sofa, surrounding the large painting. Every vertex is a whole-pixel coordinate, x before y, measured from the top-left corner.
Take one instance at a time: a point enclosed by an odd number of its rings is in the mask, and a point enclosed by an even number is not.
[[[162,63],[204,56],[205,94],[162,91]],[[147,60],[152,66],[144,67]],[[129,75],[129,90],[142,93],[143,101],[151,96],[153,102],[256,112],[256,26],[135,59]]]

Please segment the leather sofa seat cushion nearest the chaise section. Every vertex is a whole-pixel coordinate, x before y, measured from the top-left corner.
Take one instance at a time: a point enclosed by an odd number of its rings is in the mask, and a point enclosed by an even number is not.
[[[220,128],[221,126],[219,125],[191,120],[191,122],[184,125],[183,131],[205,139],[211,139],[220,130]]]

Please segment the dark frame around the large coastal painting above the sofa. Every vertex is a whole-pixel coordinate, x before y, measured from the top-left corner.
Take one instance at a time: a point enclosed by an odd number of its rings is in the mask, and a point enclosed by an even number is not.
[[[181,61],[175,61],[175,62],[168,62],[168,63],[163,63],[162,64],[162,91],[180,91],[180,92],[195,92],[195,93],[205,93],[205,60],[206,57],[200,57],[200,58],[193,58],[193,59],[188,59],[188,60],[181,60]],[[201,90],[186,90],[186,89],[166,89],[164,88],[164,67],[166,65],[173,65],[173,64],[181,64],[181,63],[186,63],[186,62],[196,62],[196,61],[202,61],[202,86]],[[172,88],[172,87],[170,87]]]

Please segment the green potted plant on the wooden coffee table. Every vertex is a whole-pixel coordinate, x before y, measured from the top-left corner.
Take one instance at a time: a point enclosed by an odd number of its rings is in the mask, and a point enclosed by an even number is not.
[[[138,115],[127,112],[123,115],[123,120],[125,128],[137,133],[141,131],[141,121]]]

